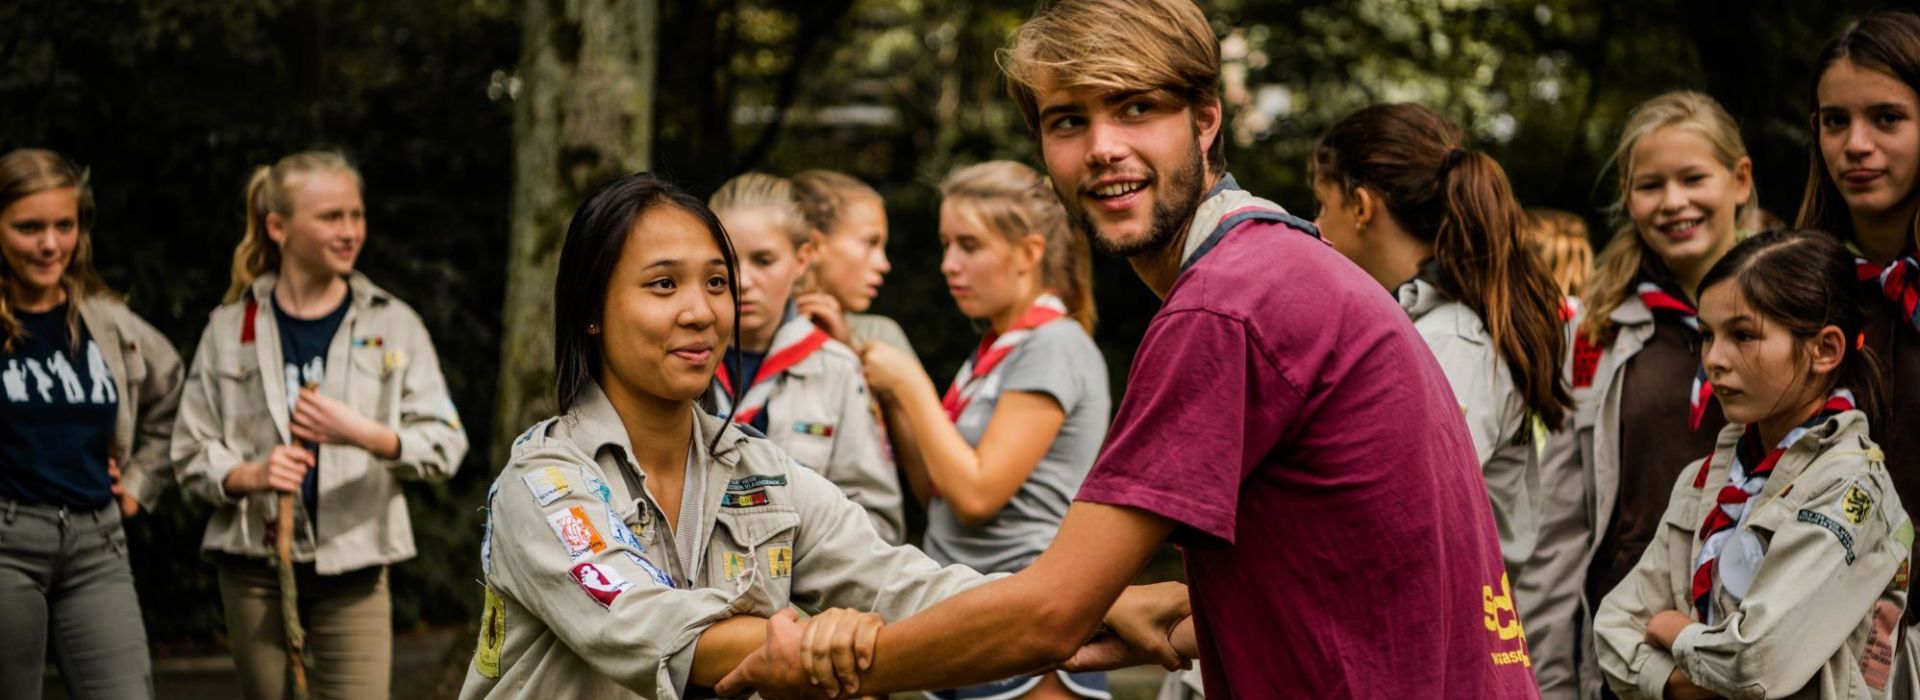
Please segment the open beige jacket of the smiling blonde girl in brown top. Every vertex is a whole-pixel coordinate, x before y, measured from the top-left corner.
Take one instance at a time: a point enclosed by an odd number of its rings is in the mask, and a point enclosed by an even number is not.
[[[1569,322],[1586,322],[1588,307]],[[1574,408],[1561,432],[1548,435],[1540,458],[1540,531],[1534,554],[1515,577],[1526,644],[1540,694],[1548,700],[1599,698],[1601,677],[1594,664],[1594,608],[1586,598],[1586,573],[1599,554],[1620,491],[1620,395],[1626,364],[1653,338],[1653,313],[1638,295],[1613,309],[1613,345],[1599,355],[1594,382],[1571,382]],[[1572,347],[1569,343],[1569,347]],[[1692,472],[1688,472],[1692,474]],[[1697,525],[1697,524],[1695,524]]]

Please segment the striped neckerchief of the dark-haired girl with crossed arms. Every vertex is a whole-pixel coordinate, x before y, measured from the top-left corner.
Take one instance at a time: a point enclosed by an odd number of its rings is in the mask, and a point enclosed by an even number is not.
[[[1780,456],[1788,453],[1807,435],[1809,430],[1820,426],[1837,412],[1853,410],[1853,391],[1836,389],[1834,395],[1826,399],[1820,412],[1812,420],[1801,424],[1788,432],[1780,445],[1774,445],[1757,464],[1747,464],[1755,455],[1759,455],[1761,430],[1747,424],[1747,430],[1740,435],[1740,443],[1734,447],[1734,466],[1726,470],[1726,485],[1715,497],[1715,508],[1707,512],[1707,522],[1699,525],[1699,556],[1693,560],[1693,612],[1703,623],[1715,623],[1713,614],[1713,585],[1715,581],[1726,581],[1728,577],[1740,581],[1753,581],[1753,573],[1759,568],[1759,556],[1736,556],[1722,558],[1732,541],[1736,527],[1747,522],[1747,514],[1753,510],[1753,497],[1766,487],[1766,478],[1774,474],[1774,466],[1780,464]],[[1699,466],[1699,476],[1693,479],[1695,487],[1707,485],[1707,472],[1713,468],[1713,456]],[[1736,570],[1738,568],[1738,570]],[[1745,596],[1745,585],[1740,587],[1736,596]]]

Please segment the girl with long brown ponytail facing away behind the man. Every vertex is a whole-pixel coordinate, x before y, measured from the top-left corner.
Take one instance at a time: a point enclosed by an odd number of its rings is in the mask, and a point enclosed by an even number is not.
[[[1559,286],[1526,253],[1505,171],[1411,104],[1348,115],[1311,165],[1321,234],[1394,290],[1446,370],[1494,499],[1501,558],[1521,573],[1538,533],[1542,441],[1572,399],[1559,374]]]

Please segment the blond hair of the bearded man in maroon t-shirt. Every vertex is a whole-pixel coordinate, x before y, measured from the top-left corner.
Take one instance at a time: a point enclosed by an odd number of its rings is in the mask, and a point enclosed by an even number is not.
[[[1098,92],[1165,90],[1188,107],[1219,102],[1219,36],[1192,0],[1046,2],[998,54],[1008,92],[1039,136],[1039,84]],[[1208,169],[1227,167],[1225,138]]]

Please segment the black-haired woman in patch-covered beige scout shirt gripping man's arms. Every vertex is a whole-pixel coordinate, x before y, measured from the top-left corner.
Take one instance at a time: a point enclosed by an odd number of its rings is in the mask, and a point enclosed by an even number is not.
[[[574,213],[553,290],[561,416],[515,439],[488,491],[463,698],[682,698],[789,606],[816,612],[810,648],[839,652],[816,673],[833,692],[872,658],[881,616],[985,581],[887,545],[826,478],[699,410],[735,343],[735,270],[712,211],[655,175]]]

